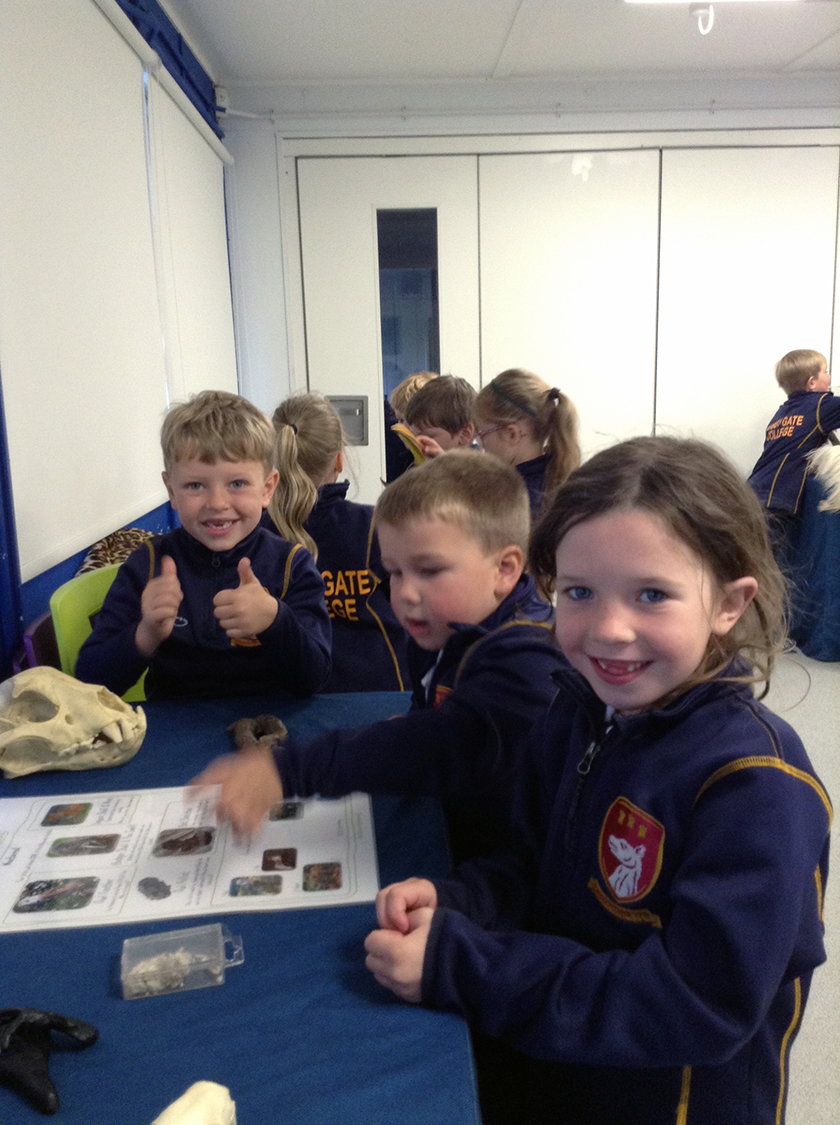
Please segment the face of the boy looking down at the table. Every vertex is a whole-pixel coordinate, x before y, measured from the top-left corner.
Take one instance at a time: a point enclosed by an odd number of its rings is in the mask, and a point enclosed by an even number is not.
[[[486,554],[460,528],[442,520],[413,519],[379,525],[382,565],[390,575],[391,605],[421,648],[440,651],[451,622],[479,624],[516,585],[504,552]]]

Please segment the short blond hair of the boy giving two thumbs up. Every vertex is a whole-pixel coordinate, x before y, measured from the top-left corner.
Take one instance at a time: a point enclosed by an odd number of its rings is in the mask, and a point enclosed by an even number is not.
[[[197,458],[216,461],[260,461],[268,476],[274,467],[274,429],[253,403],[226,390],[202,390],[186,403],[174,403],[161,426],[163,467]]]

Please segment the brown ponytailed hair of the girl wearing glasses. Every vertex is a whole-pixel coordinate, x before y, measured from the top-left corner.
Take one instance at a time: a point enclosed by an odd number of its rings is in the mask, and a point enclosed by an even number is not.
[[[497,375],[479,390],[476,416],[490,423],[517,422],[542,443],[548,457],[547,495],[580,465],[575,404],[533,371],[514,367]]]

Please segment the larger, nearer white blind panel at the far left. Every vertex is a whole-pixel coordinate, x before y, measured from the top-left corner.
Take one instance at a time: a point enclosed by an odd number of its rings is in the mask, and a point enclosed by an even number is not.
[[[0,364],[30,578],[164,498],[143,71],[89,0],[0,9]]]

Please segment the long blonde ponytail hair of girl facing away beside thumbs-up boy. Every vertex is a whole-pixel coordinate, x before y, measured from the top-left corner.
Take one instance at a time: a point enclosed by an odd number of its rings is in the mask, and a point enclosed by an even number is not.
[[[269,501],[269,515],[283,537],[302,543],[313,558],[318,548],[304,523],[315,507],[318,487],[344,451],[341,418],[322,395],[292,395],[272,415],[280,483]]]

